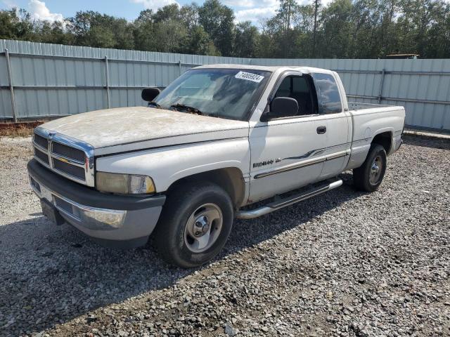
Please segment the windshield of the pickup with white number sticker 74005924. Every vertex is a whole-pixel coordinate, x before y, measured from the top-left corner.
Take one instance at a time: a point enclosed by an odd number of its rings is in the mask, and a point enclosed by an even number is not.
[[[167,86],[156,105],[165,109],[247,120],[271,72],[239,69],[189,70]]]

